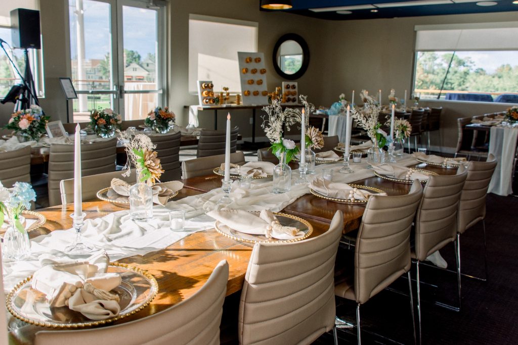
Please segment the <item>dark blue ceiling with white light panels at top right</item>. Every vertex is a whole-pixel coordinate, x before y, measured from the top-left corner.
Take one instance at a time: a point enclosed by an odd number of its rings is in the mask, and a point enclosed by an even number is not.
[[[513,4],[513,1],[515,0],[482,1],[478,3],[495,5],[479,6],[474,0],[292,0],[293,8],[285,12],[327,20],[441,16],[518,11],[518,3]],[[340,14],[337,11],[351,13]],[[516,19],[518,20],[518,13]]]

